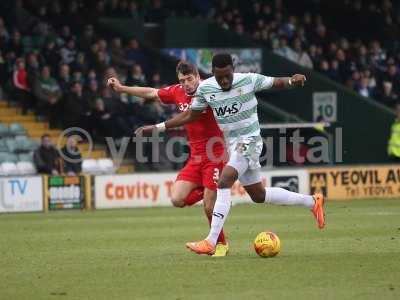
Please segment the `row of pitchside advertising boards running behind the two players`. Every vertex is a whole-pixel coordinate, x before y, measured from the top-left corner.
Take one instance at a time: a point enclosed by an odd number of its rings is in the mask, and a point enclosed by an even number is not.
[[[22,176],[0,178],[0,213],[63,209],[172,206],[176,173],[96,176]],[[321,168],[263,169],[267,187],[293,192],[321,192],[329,200],[400,198],[400,164]],[[93,197],[92,197],[93,193]],[[233,204],[251,203],[238,182]]]

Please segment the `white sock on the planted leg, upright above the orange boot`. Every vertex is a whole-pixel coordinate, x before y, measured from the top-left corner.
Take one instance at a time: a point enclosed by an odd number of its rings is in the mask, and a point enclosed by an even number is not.
[[[215,201],[214,205],[210,233],[206,238],[214,246],[217,244],[219,233],[224,226],[230,209],[231,189],[217,189],[217,200]]]

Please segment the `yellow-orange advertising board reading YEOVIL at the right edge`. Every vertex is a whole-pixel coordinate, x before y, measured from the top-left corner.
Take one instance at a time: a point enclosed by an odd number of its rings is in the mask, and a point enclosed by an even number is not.
[[[328,199],[400,197],[400,165],[309,169],[310,192]]]

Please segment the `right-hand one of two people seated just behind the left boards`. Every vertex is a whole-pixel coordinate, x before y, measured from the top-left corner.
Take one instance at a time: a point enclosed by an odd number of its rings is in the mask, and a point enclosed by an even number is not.
[[[77,147],[78,138],[75,135],[69,136],[65,146],[61,148],[62,169],[68,176],[75,176],[82,172],[82,155]]]

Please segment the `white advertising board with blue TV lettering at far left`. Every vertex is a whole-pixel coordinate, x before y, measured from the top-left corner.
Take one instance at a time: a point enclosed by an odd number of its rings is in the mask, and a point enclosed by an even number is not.
[[[42,177],[12,177],[0,179],[0,212],[42,210]]]

